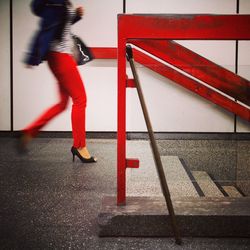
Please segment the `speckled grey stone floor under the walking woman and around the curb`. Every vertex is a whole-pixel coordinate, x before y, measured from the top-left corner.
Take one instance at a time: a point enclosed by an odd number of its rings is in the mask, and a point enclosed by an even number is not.
[[[250,239],[236,238],[185,238],[182,246],[172,238],[99,238],[102,197],[116,193],[116,141],[88,140],[98,157],[92,165],[72,162],[71,139],[38,138],[26,155],[15,145],[0,138],[0,249],[250,248]]]

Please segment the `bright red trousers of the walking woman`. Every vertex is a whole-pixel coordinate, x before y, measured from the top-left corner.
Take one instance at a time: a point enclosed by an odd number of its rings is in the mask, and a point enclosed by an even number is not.
[[[73,101],[71,112],[73,146],[76,148],[85,147],[85,109],[87,98],[77,65],[71,55],[58,52],[49,54],[48,64],[58,81],[60,100],[31,125],[23,129],[23,132],[32,137],[36,136],[48,121],[66,109],[69,97],[71,97]]]

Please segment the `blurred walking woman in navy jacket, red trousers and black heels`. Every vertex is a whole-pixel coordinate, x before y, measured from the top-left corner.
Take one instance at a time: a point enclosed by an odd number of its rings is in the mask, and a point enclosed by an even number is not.
[[[48,61],[49,68],[58,81],[60,101],[22,130],[21,144],[23,147],[27,146],[43,126],[65,110],[71,97],[73,101],[71,113],[73,160],[77,156],[83,163],[96,162],[96,158],[90,156],[86,147],[87,98],[77,64],[72,56],[71,25],[81,19],[83,8],[74,9],[68,0],[33,0],[31,9],[41,18],[41,24],[25,63],[27,67],[31,67],[45,60]]]

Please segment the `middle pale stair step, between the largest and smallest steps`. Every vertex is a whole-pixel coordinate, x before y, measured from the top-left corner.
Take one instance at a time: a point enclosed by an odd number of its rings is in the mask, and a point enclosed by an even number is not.
[[[192,174],[206,197],[223,197],[223,193],[205,171],[192,171]]]

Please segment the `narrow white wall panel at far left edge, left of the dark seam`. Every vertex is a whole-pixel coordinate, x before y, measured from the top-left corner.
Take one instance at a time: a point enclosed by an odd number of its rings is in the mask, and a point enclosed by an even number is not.
[[[0,130],[10,130],[10,2],[0,1]]]

